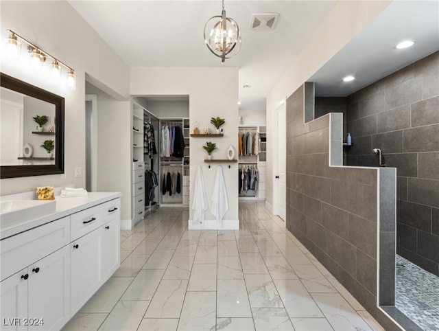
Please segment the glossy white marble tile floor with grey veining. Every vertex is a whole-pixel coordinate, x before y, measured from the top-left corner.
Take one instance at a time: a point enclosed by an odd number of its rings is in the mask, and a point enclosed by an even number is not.
[[[121,266],[68,330],[383,330],[262,203],[240,229],[189,231],[159,208],[121,231]]]

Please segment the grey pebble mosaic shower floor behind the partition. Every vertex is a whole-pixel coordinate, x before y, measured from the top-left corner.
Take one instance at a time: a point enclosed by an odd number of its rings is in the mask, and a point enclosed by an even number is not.
[[[395,306],[425,331],[439,330],[439,277],[396,255]]]

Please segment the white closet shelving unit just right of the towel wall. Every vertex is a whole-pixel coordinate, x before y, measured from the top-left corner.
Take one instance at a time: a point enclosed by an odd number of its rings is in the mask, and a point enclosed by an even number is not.
[[[265,200],[266,190],[266,161],[267,161],[267,126],[265,125],[240,125],[239,133],[259,133],[261,149],[258,155],[238,155],[238,168],[256,168],[258,170],[257,190],[247,190],[239,193],[242,200]]]

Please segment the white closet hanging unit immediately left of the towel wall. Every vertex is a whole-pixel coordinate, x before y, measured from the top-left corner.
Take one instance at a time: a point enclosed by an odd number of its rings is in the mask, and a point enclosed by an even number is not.
[[[185,141],[185,150],[183,152],[183,157],[160,157],[160,171],[158,175],[158,194],[160,196],[160,205],[164,207],[187,207],[189,206],[189,137],[190,137],[190,126],[189,118],[171,118],[171,119],[160,119],[159,132],[163,126],[180,126],[182,128],[183,139]],[[160,135],[160,139],[163,139]],[[160,144],[161,146],[161,140]],[[158,150],[160,155],[161,150]],[[169,196],[169,192],[165,194],[162,193],[163,189],[163,175],[165,179],[167,178],[167,172],[176,173],[175,178],[177,178],[177,173],[180,173],[181,181],[181,193],[172,194]]]

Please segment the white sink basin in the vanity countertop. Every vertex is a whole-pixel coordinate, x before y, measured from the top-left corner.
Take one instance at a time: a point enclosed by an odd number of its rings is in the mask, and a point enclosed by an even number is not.
[[[56,211],[54,200],[10,200],[0,203],[0,229],[19,225]]]

